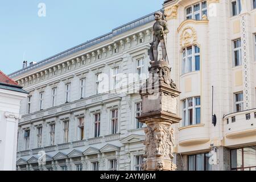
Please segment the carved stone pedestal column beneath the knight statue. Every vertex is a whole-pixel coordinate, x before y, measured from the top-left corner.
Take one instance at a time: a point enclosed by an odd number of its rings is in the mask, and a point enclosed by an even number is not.
[[[173,123],[178,123],[177,96],[180,92],[171,79],[171,69],[163,60],[151,62],[150,77],[142,86],[142,114],[139,122],[146,123],[144,141],[146,171],[174,171],[176,165],[171,162],[174,146]]]

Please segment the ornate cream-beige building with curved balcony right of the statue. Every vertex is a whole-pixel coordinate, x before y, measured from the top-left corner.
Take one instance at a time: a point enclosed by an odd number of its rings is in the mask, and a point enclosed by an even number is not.
[[[254,1],[166,1],[167,16],[172,7],[167,44],[183,118],[175,126],[178,170],[255,170]]]

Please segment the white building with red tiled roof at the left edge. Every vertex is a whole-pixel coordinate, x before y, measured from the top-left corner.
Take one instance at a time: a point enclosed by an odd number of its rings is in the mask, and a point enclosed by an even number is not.
[[[16,170],[20,101],[27,92],[0,71],[0,171]]]

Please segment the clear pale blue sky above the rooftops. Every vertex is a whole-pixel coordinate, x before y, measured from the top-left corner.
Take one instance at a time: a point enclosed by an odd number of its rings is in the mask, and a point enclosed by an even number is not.
[[[38,5],[46,16],[38,16]],[[8,0],[0,2],[0,70],[41,61],[162,8],[163,0]]]

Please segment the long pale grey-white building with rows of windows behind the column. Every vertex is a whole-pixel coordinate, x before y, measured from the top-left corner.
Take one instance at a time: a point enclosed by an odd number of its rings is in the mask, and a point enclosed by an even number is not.
[[[10,75],[22,101],[18,170],[139,170],[154,15]]]

